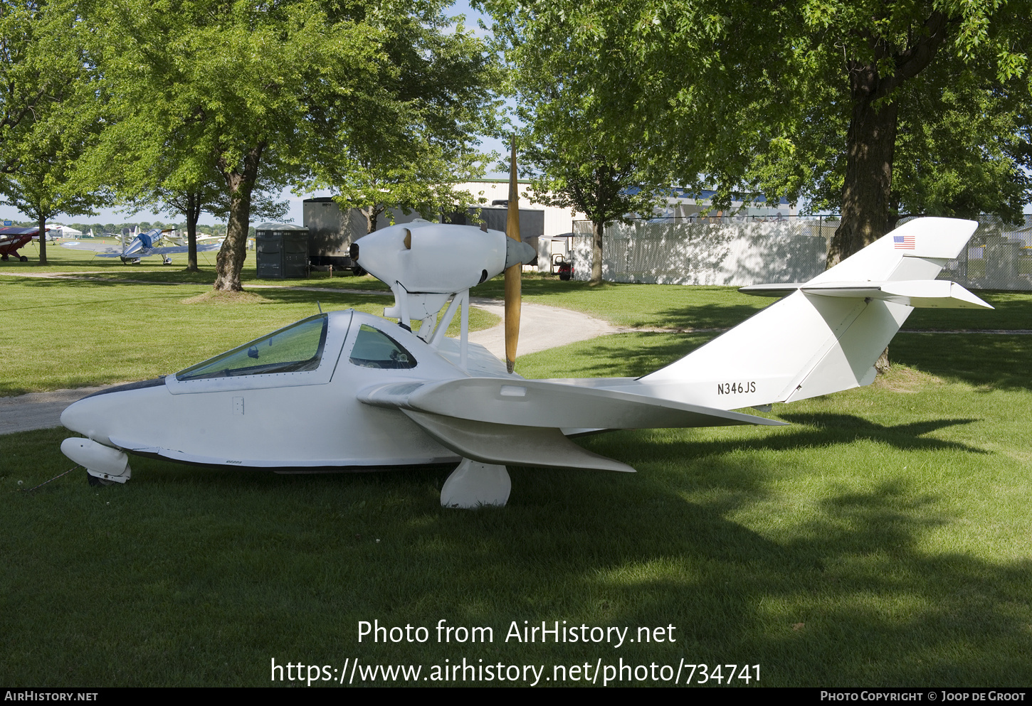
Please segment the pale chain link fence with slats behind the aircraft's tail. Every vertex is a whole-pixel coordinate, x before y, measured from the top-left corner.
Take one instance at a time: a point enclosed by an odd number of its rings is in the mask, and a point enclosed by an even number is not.
[[[904,223],[901,220],[900,223]],[[607,281],[744,287],[806,281],[825,270],[834,216],[653,218],[609,224]],[[574,278],[591,276],[591,224],[574,222]],[[1018,227],[979,218],[967,249],[939,275],[974,290],[1032,291],[1032,216]]]

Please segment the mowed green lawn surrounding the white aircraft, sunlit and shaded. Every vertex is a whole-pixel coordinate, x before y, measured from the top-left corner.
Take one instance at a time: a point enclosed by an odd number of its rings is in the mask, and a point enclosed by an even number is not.
[[[675,329],[724,328],[767,303],[718,288],[568,284],[525,290]],[[316,298],[385,303],[285,290],[184,303],[202,284],[0,288],[13,313],[4,394],[172,372],[314,313]],[[996,311],[917,312],[907,327],[1032,328],[1032,297],[986,298]],[[522,357],[518,370],[638,375],[714,335],[621,334]],[[708,681],[718,686],[727,665],[750,666],[735,685],[1028,684],[1030,343],[901,334],[873,385],[775,405],[769,415],[789,426],[582,439],[638,473],[514,468],[509,505],[480,511],[442,509],[448,472],[433,470],[284,476],[134,459],[124,486],[90,488],[78,470],[26,493],[70,467],[58,448],[68,432],[0,436],[0,682],[265,685],[271,660],[337,679],[358,659],[420,666],[428,685],[433,666],[464,658],[536,665],[542,683],[556,666],[622,660],[722,665]],[[362,620],[426,627],[428,639],[359,643]],[[493,640],[439,642],[439,620],[491,628]],[[666,630],[618,647],[506,640],[514,621],[563,620],[631,638]],[[655,673],[616,683],[666,683]],[[568,671],[562,683],[581,682]]]

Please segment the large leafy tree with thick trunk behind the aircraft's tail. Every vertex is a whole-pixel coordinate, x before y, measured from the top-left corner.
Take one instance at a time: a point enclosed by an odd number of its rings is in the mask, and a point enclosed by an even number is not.
[[[574,49],[565,89],[605,96],[606,129],[662,135],[674,174],[705,175],[718,205],[751,190],[838,206],[829,266],[900,208],[1012,214],[1028,201],[1027,0],[490,6],[503,25],[533,24],[547,57]]]

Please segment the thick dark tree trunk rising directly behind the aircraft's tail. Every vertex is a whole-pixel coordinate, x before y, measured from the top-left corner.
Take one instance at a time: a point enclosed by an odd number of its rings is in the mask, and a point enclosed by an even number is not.
[[[842,223],[828,248],[828,268],[889,232],[896,116],[895,102],[876,108],[873,99],[853,91],[842,184]]]

